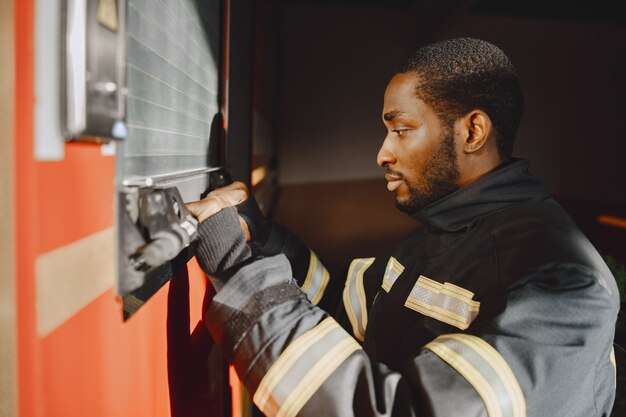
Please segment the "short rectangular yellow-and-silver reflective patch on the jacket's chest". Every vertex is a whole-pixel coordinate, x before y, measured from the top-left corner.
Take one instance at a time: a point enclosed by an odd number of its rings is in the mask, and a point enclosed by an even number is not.
[[[405,307],[425,316],[465,330],[480,310],[480,302],[472,300],[474,293],[454,284],[441,284],[420,276],[413,286]]]

